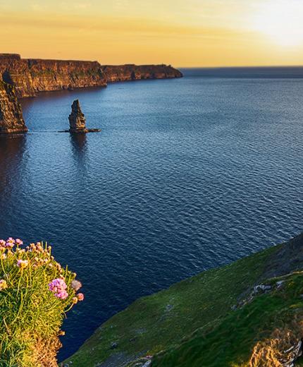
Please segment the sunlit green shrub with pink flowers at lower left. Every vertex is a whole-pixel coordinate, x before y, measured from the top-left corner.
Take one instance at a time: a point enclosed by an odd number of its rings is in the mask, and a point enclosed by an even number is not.
[[[0,366],[57,366],[61,325],[83,294],[47,243],[0,240]]]

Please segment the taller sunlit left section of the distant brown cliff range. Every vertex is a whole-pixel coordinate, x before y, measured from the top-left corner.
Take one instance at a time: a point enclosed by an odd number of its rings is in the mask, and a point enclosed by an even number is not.
[[[0,54],[0,76],[15,86],[19,98],[47,90],[106,85],[97,61],[21,59],[18,54]]]

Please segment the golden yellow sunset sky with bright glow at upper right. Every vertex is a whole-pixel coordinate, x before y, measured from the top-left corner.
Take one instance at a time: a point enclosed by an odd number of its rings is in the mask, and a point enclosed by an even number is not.
[[[101,64],[303,64],[303,0],[0,0],[0,53]]]

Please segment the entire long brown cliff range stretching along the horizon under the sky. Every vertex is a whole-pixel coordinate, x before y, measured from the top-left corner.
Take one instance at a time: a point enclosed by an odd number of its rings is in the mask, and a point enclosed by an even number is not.
[[[105,87],[107,82],[181,76],[180,71],[166,65],[101,66],[98,61],[21,59],[18,54],[0,54],[0,80],[13,85],[18,98],[48,90]]]

